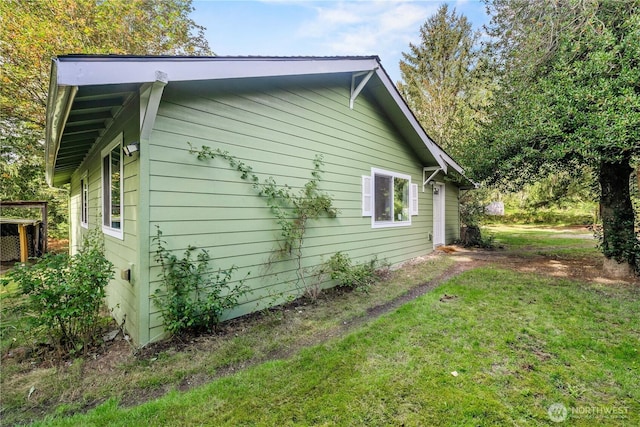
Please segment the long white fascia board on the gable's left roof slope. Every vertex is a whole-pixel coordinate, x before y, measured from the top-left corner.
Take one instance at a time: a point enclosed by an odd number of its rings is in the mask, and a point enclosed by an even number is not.
[[[58,85],[88,86],[156,81],[156,70],[176,81],[275,77],[369,71],[375,58],[75,58],[57,62]]]

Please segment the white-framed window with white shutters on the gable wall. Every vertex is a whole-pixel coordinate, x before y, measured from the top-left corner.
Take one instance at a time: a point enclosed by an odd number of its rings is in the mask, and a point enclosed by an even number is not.
[[[371,216],[373,228],[411,225],[418,211],[417,186],[411,176],[372,168],[362,177],[362,214]]]

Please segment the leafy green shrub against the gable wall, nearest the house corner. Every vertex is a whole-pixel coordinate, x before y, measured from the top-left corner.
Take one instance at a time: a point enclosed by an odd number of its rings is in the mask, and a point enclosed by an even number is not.
[[[222,313],[237,306],[246,293],[242,281],[233,287],[229,285],[235,266],[212,274],[206,250],[194,258],[196,248],[189,246],[184,256],[178,258],[166,248],[159,228],[153,241],[157,246],[155,259],[162,267],[162,288],[156,290],[153,299],[171,334],[211,330],[220,322]]]

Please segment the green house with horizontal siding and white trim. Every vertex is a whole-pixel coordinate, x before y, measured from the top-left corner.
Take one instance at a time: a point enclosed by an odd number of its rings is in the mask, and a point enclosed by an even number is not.
[[[151,296],[153,237],[208,250],[251,289],[227,318],[299,295],[281,234],[222,149],[261,178],[301,187],[323,156],[320,189],[336,218],[312,221],[304,267],[338,251],[400,265],[459,234],[458,193],[472,185],[427,136],[376,56],[61,56],[47,104],[46,173],[70,184],[70,247],[102,230],[116,268],[107,304],[137,345],[164,337]],[[459,183],[466,184],[459,184]],[[327,284],[330,285],[330,284]]]

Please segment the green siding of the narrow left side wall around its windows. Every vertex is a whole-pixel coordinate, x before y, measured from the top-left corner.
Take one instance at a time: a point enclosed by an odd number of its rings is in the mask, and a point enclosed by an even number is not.
[[[123,134],[124,142],[138,140],[139,106],[131,102],[119,116],[119,120],[100,138],[89,151],[80,167],[73,173],[70,185],[70,251],[76,253],[82,244],[82,237],[88,229],[102,229],[102,150]],[[140,279],[139,240],[138,240],[138,207],[139,207],[139,161],[138,157],[123,156],[123,238],[118,239],[103,234],[106,257],[114,264],[114,279],[107,286],[106,306],[116,321],[124,324],[134,342],[140,342],[140,291],[144,283]],[[89,218],[88,229],[80,225],[80,181],[87,174],[89,184]],[[146,247],[146,245],[145,245]],[[121,279],[120,272],[132,268],[131,282]],[[145,299],[148,298],[145,293]],[[145,315],[146,317],[146,315]]]

